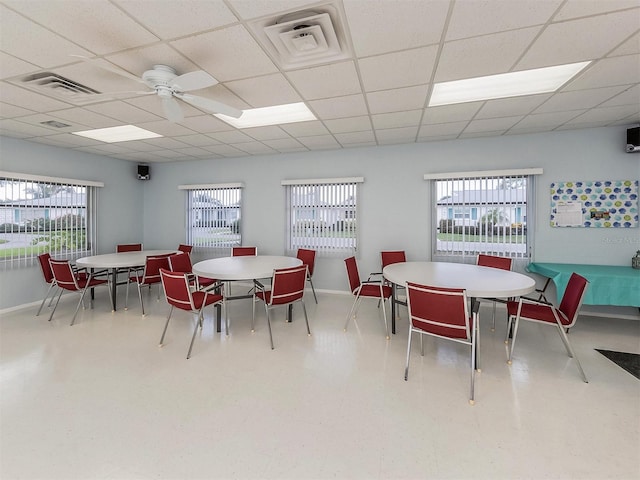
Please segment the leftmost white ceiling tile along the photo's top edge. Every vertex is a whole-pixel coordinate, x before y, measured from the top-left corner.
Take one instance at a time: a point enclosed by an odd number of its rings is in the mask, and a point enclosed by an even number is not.
[[[7,0],[5,3],[47,29],[64,31],[66,38],[100,55],[158,41],[107,0]],[[69,29],[69,24],[74,28]]]

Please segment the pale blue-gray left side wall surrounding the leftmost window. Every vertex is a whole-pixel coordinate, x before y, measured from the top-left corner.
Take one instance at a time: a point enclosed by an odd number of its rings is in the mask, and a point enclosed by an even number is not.
[[[137,165],[65,148],[0,138],[0,170],[103,182],[98,194],[98,252],[143,236],[144,182]],[[42,299],[47,288],[40,267],[0,267],[0,310]]]

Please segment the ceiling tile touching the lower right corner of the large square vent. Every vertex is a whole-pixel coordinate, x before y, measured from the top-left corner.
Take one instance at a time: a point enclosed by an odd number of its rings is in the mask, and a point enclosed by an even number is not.
[[[432,46],[363,58],[358,66],[365,91],[429,83],[437,53]]]

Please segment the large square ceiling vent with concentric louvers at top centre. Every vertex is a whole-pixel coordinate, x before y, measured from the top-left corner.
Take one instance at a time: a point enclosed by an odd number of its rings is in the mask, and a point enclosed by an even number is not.
[[[344,15],[334,3],[252,22],[262,46],[285,70],[351,57]]]

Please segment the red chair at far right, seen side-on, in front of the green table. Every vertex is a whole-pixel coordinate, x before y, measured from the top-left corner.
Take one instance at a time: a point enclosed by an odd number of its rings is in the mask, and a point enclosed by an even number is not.
[[[582,379],[585,383],[588,383],[587,376],[584,374],[580,361],[578,360],[578,357],[576,357],[576,354],[571,347],[571,343],[569,343],[569,337],[567,337],[565,332],[565,329],[569,329],[576,324],[588,284],[589,282],[586,278],[578,275],[577,273],[572,273],[569,278],[569,283],[567,283],[567,288],[564,291],[564,295],[562,295],[560,306],[557,308],[553,305],[549,305],[548,303],[541,303],[527,298],[520,298],[517,302],[508,302],[507,312],[509,314],[509,326],[507,328],[505,343],[509,343],[509,332],[511,331],[512,326],[513,338],[511,339],[511,349],[509,350],[507,363],[511,365],[513,348],[516,345],[516,335],[518,333],[520,320],[538,322],[541,325],[552,325],[558,328],[560,338],[567,349],[567,353],[570,357],[575,359],[578,370],[580,370],[580,375],[582,375]],[[515,325],[513,324],[514,320]]]

